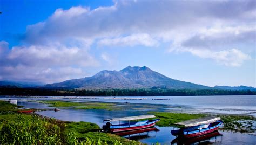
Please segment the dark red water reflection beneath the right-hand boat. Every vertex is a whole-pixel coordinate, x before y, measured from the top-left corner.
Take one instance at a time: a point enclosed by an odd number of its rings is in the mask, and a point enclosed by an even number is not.
[[[171,144],[219,144],[222,142],[222,134],[217,131],[210,134],[201,135],[186,139],[184,137],[177,137],[172,140]]]

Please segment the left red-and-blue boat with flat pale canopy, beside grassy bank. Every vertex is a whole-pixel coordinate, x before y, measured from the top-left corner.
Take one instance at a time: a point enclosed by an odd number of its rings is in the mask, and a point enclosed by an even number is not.
[[[125,132],[130,130],[137,130],[143,128],[152,127],[160,119],[150,119],[156,118],[154,115],[140,115],[140,116],[130,116],[125,118],[112,118],[103,120],[103,130],[105,132]],[[146,119],[146,120],[142,120]],[[149,120],[150,119],[150,120]],[[134,121],[142,120],[142,121]]]

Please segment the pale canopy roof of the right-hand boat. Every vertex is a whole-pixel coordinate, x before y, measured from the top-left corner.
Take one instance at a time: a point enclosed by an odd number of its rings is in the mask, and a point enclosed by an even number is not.
[[[199,125],[207,125],[209,123],[213,123],[220,120],[220,117],[216,116],[209,116],[205,118],[199,118],[199,119],[191,119],[187,121],[182,121],[178,123],[174,123],[176,125],[184,125],[185,127],[191,127],[191,126],[199,126]]]

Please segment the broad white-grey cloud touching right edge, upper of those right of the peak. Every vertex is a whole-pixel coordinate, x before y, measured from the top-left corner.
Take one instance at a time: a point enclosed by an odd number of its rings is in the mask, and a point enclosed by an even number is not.
[[[194,36],[183,40],[184,47],[203,48],[203,49],[221,49],[228,45],[256,45],[256,27],[238,26],[238,27],[211,27],[202,29]]]

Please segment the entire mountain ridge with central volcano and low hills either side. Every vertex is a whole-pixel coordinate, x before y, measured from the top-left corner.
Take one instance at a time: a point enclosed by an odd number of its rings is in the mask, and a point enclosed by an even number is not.
[[[152,71],[149,67],[127,66],[120,71],[103,70],[91,77],[65,80],[58,83],[40,85],[32,82],[0,81],[0,87],[20,88],[45,88],[45,89],[223,89],[223,90],[250,90],[256,91],[254,87],[247,86],[214,86],[194,84],[192,82],[180,81],[166,77],[165,75]]]

